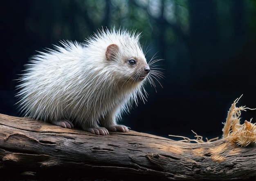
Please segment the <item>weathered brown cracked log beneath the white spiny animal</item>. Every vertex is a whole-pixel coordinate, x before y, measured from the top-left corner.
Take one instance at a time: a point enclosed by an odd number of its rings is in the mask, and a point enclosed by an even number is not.
[[[98,136],[4,114],[0,114],[0,158],[1,175],[8,175],[8,170],[49,177],[49,173],[88,177],[97,171],[96,178],[158,180],[256,175],[256,145],[240,147],[226,139],[184,143],[134,131]]]

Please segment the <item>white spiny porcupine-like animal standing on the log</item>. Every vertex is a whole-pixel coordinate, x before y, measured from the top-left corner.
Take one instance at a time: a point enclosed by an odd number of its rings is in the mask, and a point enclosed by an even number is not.
[[[39,52],[19,79],[20,111],[94,134],[128,132],[117,120],[137,103],[137,95],[145,98],[146,81],[155,86],[152,78],[162,77],[156,65],[150,70],[159,59],[148,65],[139,38],[135,31],[102,29],[85,43],[61,41],[55,50]]]

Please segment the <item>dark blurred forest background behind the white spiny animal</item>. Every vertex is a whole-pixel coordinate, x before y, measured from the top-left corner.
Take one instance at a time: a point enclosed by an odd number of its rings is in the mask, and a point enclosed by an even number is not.
[[[36,51],[113,26],[142,31],[146,58],[164,59],[163,88],[146,87],[147,102],[124,116],[132,130],[212,138],[236,98],[256,107],[254,0],[3,0],[0,8],[2,114],[20,115],[15,79]],[[256,111],[242,117],[255,122]]]

